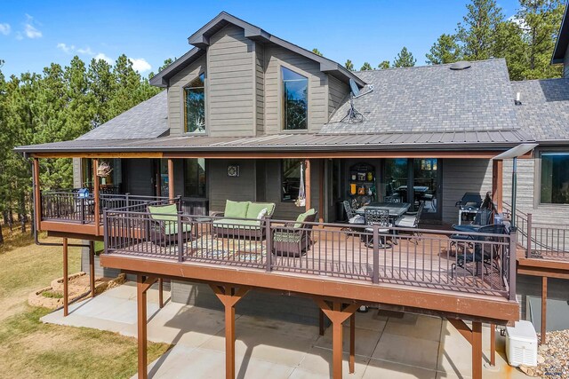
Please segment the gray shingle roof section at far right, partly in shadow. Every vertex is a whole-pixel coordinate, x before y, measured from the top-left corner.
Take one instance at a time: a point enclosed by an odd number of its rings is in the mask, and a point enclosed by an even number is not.
[[[517,122],[537,141],[569,139],[569,79],[512,82]]]

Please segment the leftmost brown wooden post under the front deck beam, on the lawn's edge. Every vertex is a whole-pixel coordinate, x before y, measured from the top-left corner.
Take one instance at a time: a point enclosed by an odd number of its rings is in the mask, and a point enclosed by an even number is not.
[[[138,313],[138,377],[148,379],[148,336],[147,336],[147,291],[156,282],[156,277],[136,277],[136,304]]]

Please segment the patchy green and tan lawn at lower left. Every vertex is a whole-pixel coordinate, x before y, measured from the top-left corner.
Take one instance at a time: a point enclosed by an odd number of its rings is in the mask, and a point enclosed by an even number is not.
[[[61,248],[33,242],[18,245],[0,248],[0,378],[129,378],[136,374],[134,338],[39,321],[50,311],[29,306],[28,294],[61,276]],[[70,249],[69,272],[79,269],[80,251]],[[148,361],[168,348],[164,343],[148,343]]]

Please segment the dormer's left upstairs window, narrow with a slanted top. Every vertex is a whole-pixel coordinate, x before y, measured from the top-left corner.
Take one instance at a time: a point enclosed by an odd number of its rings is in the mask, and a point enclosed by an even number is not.
[[[200,74],[184,88],[184,123],[188,133],[205,131],[205,75]]]

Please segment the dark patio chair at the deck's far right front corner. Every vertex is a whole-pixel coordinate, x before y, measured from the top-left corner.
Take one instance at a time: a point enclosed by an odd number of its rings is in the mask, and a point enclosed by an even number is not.
[[[506,234],[506,226],[485,225],[480,227],[477,232],[495,234],[495,236],[473,236],[472,244],[474,245],[474,252],[465,250],[462,254],[457,254],[456,262],[451,265],[451,278],[454,277],[454,271],[457,267],[461,267],[473,275],[478,275],[478,264],[484,265],[486,273],[488,273],[488,267],[500,270],[500,266],[498,265],[498,260],[500,258],[499,247],[492,242],[501,241],[503,236]],[[476,272],[467,267],[470,263],[475,265],[474,270],[476,270]]]

